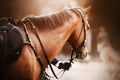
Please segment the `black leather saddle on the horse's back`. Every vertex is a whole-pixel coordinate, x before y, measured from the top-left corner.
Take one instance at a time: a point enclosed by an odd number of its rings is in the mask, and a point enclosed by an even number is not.
[[[22,46],[20,29],[8,18],[0,18],[0,64],[12,63],[18,59]]]

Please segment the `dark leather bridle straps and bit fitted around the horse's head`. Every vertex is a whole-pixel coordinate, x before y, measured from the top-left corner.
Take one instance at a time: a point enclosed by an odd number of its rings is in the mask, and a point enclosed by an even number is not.
[[[83,54],[83,50],[86,47],[86,32],[87,32],[86,28],[87,28],[87,26],[85,25],[86,24],[85,18],[82,14],[81,9],[80,8],[77,8],[77,9],[78,9],[80,16],[82,18],[82,28],[81,28],[81,31],[79,33],[79,37],[78,37],[76,42],[78,42],[80,40],[83,30],[84,30],[84,39],[83,39],[83,42],[77,48],[73,45],[73,43],[71,42],[71,39],[68,41],[72,46],[72,53],[71,53],[71,59],[70,59],[71,62],[73,61],[74,58],[84,59],[87,56],[87,54],[86,55]],[[75,57],[73,57],[74,53],[76,53]]]

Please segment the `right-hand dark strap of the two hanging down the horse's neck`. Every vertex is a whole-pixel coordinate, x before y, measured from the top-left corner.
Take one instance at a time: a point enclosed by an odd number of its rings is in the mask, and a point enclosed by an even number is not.
[[[44,57],[45,57],[48,65],[49,65],[49,67],[50,67],[53,75],[58,79],[57,75],[55,74],[55,72],[54,72],[54,70],[53,70],[53,67],[52,67],[52,65],[51,65],[51,62],[50,62],[50,60],[49,60],[49,58],[48,58],[48,56],[47,56],[47,53],[46,53],[45,48],[44,48],[44,46],[43,46],[43,44],[42,44],[42,41],[41,41],[40,37],[38,36],[38,33],[37,33],[37,31],[36,31],[36,28],[35,28],[34,24],[31,22],[31,20],[30,20],[29,18],[26,18],[26,20],[27,20],[28,22],[30,22],[30,24],[31,24],[31,26],[32,26],[32,29],[33,29],[33,32],[35,33],[35,35],[36,35],[36,37],[37,37],[37,39],[38,39],[38,41],[39,41],[39,44],[41,45],[41,48],[42,48]]]

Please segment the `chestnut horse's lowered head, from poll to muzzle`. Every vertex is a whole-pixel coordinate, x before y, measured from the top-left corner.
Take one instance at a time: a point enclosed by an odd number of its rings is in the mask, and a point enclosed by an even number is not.
[[[85,18],[80,8],[71,10],[78,17],[80,17],[80,19],[79,23],[77,24],[77,28],[73,31],[72,35],[68,39],[68,42],[73,48],[72,52],[76,53],[76,58],[84,59],[87,56],[88,52],[86,48],[86,32],[88,29],[90,29],[90,25],[88,24],[87,17]]]

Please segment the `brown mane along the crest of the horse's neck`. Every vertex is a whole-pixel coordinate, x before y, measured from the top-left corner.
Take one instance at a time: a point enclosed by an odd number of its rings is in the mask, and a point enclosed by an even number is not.
[[[47,16],[39,16],[39,17],[33,16],[27,18],[29,18],[34,23],[35,26],[40,26],[44,28],[53,28],[57,26],[62,26],[67,21],[70,21],[70,19],[72,19],[73,13],[75,13],[76,11],[78,16],[78,10],[65,9]]]

